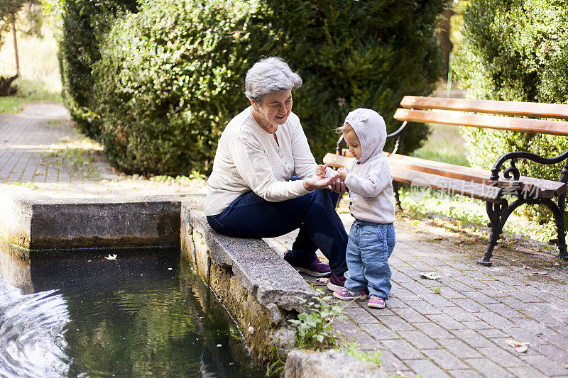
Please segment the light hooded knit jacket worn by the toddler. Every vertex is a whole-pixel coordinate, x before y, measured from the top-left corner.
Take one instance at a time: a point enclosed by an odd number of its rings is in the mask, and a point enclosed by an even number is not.
[[[383,117],[371,109],[356,109],[345,118],[361,143],[361,158],[347,168],[349,211],[361,221],[393,223],[393,175],[383,148],[386,126]]]

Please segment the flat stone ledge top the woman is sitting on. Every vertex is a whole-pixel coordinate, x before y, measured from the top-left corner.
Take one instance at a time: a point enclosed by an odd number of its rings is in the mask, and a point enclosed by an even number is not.
[[[300,274],[264,240],[229,238],[216,233],[207,223],[203,204],[204,196],[200,195],[182,201],[182,233],[187,235],[196,231],[201,235],[213,262],[230,268],[261,305],[276,304],[285,311],[305,311],[301,299],[310,299],[315,291]],[[191,226],[191,231],[188,226]],[[184,238],[182,235],[182,249]],[[192,253],[195,254],[196,265],[201,261],[202,267],[198,267],[200,274],[207,276],[203,253]]]

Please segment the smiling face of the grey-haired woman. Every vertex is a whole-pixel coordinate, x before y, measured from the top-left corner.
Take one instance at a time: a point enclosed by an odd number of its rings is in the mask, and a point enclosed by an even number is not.
[[[290,116],[292,90],[271,92],[260,103],[251,101],[251,104],[258,125],[267,133],[273,134],[278,130],[278,125],[283,125]]]

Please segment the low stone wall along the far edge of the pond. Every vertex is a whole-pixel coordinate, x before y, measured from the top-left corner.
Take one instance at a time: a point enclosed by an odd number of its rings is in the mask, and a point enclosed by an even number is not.
[[[0,236],[30,250],[175,247],[179,196],[53,199],[2,188]]]

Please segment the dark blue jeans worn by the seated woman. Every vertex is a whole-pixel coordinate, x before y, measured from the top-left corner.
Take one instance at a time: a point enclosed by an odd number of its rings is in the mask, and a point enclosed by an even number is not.
[[[335,274],[347,270],[347,233],[335,212],[339,193],[317,189],[294,199],[269,202],[249,191],[222,213],[207,216],[213,230],[236,238],[275,238],[300,228],[291,254],[298,262],[316,260],[319,248]]]

